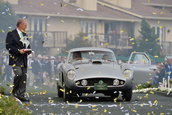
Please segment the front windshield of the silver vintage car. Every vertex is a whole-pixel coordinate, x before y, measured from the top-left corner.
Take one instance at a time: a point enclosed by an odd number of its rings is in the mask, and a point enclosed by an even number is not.
[[[100,60],[102,62],[116,62],[115,56],[109,51],[75,51],[71,52],[69,56],[69,62],[75,62],[78,60]]]

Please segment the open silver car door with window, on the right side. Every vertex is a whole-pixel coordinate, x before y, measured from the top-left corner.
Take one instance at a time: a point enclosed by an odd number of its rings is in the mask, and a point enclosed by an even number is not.
[[[155,76],[155,65],[151,65],[151,60],[145,52],[132,52],[128,64],[134,70],[134,84],[152,82]]]

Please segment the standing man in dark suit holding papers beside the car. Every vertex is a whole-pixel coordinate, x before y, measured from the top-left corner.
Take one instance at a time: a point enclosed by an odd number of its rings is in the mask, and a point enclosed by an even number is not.
[[[17,28],[11,32],[8,32],[6,37],[6,49],[9,51],[9,65],[12,66],[14,76],[14,86],[12,94],[14,97],[21,101],[29,101],[25,96],[26,92],[26,73],[27,73],[27,56],[31,52],[25,49],[30,48],[23,42],[23,39],[27,39],[25,29],[27,22],[24,19],[19,19],[17,22]]]

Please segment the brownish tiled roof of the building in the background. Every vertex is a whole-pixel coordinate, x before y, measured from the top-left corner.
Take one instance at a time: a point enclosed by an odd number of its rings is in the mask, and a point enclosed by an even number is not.
[[[147,0],[131,1],[132,8],[122,9],[141,15],[143,17],[160,17],[172,19],[172,13],[168,12],[167,10],[161,10],[145,5],[144,3],[146,3]],[[171,4],[172,0],[150,0],[150,2]],[[66,16],[102,20],[140,20],[137,16],[107,6],[102,6],[100,4],[97,4],[97,11],[88,11],[77,6],[64,3],[62,0],[19,0],[19,4],[13,5],[13,8],[17,14]]]

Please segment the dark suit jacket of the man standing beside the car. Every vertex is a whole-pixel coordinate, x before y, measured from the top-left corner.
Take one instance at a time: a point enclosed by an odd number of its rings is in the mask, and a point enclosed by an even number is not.
[[[23,36],[27,36],[23,33]],[[30,48],[30,45],[29,45]],[[8,32],[6,37],[6,49],[9,51],[9,65],[16,65],[27,68],[27,53],[20,54],[20,49],[25,49],[25,46],[20,41],[20,36],[17,30]]]

